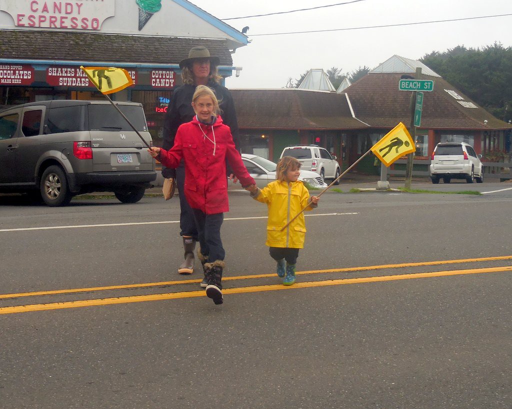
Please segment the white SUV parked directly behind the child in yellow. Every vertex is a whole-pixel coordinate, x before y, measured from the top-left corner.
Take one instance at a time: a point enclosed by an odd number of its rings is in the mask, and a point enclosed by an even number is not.
[[[336,156],[318,145],[287,146],[283,149],[280,158],[283,156],[296,158],[302,163],[301,169],[311,170],[322,176],[324,180],[336,179],[340,174]],[[339,184],[339,180],[335,184]]]

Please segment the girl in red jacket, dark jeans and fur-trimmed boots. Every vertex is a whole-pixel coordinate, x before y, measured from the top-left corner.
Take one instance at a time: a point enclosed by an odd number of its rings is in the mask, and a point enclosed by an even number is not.
[[[229,127],[219,116],[219,101],[205,85],[199,85],[192,98],[196,116],[178,128],[170,150],[152,147],[148,152],[164,166],[176,168],[185,162],[185,197],[193,210],[204,268],[206,295],[222,304],[222,271],[225,251],[220,228],[229,211],[226,159],[243,187],[255,184],[235,148]],[[181,193],[181,192],[180,192]]]

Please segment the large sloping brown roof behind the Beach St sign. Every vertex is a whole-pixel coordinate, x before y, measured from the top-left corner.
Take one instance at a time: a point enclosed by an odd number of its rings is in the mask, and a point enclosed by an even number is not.
[[[372,127],[392,128],[398,122],[409,125],[411,93],[398,90],[401,75],[403,73],[370,73],[345,89],[344,92],[350,98],[355,116]],[[512,128],[510,124],[493,117],[441,77],[423,75],[421,79],[433,80],[434,91],[423,93],[420,128],[459,130]],[[486,124],[484,120],[487,120]]]

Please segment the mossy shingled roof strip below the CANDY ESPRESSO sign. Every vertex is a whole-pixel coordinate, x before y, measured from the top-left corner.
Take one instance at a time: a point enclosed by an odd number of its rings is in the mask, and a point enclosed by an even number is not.
[[[196,46],[208,48],[211,55],[220,58],[221,66],[232,66],[233,60],[225,39],[0,30],[2,60],[178,64],[188,56],[190,48]]]

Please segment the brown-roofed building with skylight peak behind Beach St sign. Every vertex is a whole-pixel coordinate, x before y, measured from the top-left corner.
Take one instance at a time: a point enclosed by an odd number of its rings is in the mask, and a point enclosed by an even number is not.
[[[417,60],[393,56],[341,93],[298,89],[231,90],[237,106],[243,153],[276,161],[282,149],[317,144],[336,155],[342,169],[360,158],[399,122],[411,125],[411,91],[399,81],[422,68],[433,81],[424,92],[420,126],[415,129],[415,174],[428,175],[430,155],[438,142],[467,142],[483,162],[512,162],[512,125],[497,119]],[[499,156],[501,154],[501,156]],[[399,161],[401,162],[401,161]],[[356,167],[379,174],[379,162],[368,155]],[[499,167],[499,166],[498,166]],[[404,165],[393,165],[402,174]],[[486,173],[494,166],[487,165]]]

